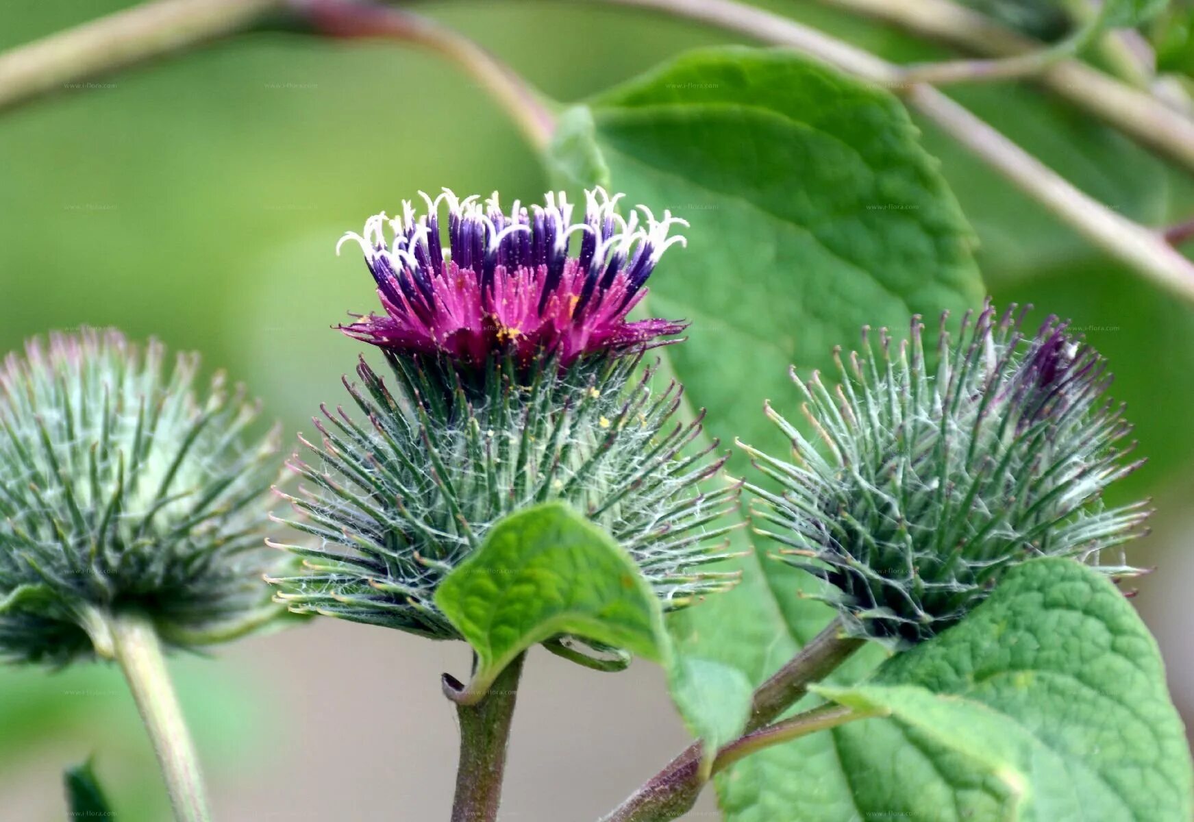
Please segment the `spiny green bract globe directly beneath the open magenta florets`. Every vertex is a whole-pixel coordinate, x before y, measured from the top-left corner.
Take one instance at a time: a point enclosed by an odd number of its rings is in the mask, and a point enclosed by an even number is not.
[[[650,387],[639,358],[601,356],[561,370],[491,358],[462,375],[431,356],[386,352],[398,385],[362,360],[363,391],[347,382],[367,423],[325,409],[310,486],[287,497],[294,528],[322,540],[289,545],[307,571],[272,579],[277,599],[433,638],[461,638],[433,602],[444,577],[503,516],[561,499],[605,528],[642,570],[665,609],[722,590],[734,575],[703,572],[725,557],[712,542],[738,489],[704,492],[721,460],[688,453],[700,423],[672,424],[676,385]]]

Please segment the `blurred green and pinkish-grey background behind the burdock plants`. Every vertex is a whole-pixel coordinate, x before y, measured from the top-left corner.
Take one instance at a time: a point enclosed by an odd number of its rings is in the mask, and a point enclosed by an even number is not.
[[[125,5],[7,0],[0,48]],[[759,5],[893,60],[949,54],[812,0]],[[419,8],[559,100],[733,39],[584,4]],[[330,326],[374,302],[361,260],[333,253],[340,234],[419,189],[529,201],[546,186],[482,88],[394,44],[253,32],[84,85],[0,116],[0,351],[81,324],[153,335],[246,381],[290,431],[309,430],[320,401],[339,401],[339,376],[361,346]],[[1188,174],[1030,86],[965,88],[958,98],[1127,216],[1165,225],[1194,213]],[[1188,712],[1192,619],[1181,606],[1194,584],[1186,550],[1194,311],[1107,262],[943,135],[927,128],[924,140],[979,234],[990,290],[1073,317],[1119,375],[1115,393],[1152,460],[1130,491],[1155,493],[1161,510],[1158,534],[1133,559],[1164,573],[1145,582],[1138,602]],[[661,276],[670,265],[677,259]],[[220,655],[222,663],[177,664],[220,818],[445,815],[455,729],[437,676],[463,670],[462,648],[320,624]],[[596,816],[684,734],[653,669],[602,677],[541,657],[521,697],[506,814],[558,822],[554,799],[567,796]],[[592,737],[591,750],[576,750],[577,734]],[[91,752],[121,818],[162,818],[148,744],[115,671],[0,670],[0,822],[63,818],[60,769]],[[556,797],[543,796],[543,784]],[[706,802],[694,814],[713,811]]]

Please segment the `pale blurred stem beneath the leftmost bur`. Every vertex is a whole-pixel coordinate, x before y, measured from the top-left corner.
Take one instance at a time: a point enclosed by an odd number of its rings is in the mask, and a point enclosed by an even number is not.
[[[148,616],[123,612],[107,618],[112,652],[124,670],[141,711],[149,741],[166,779],[178,822],[208,822],[208,810],[195,743],[166,671],[161,643]]]

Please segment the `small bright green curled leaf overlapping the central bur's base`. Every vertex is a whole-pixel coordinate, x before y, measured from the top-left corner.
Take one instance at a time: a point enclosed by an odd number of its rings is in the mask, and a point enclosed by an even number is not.
[[[485,695],[536,643],[576,634],[665,662],[663,612],[630,556],[564,503],[511,514],[448,575],[436,605],[476,651],[461,697]]]

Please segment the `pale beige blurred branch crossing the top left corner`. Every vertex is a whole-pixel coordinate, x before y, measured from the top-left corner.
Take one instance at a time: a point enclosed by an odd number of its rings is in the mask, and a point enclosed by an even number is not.
[[[0,55],[0,111],[82,80],[241,31],[284,0],[158,0]]]

